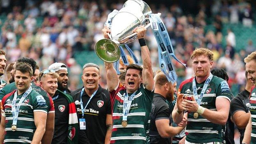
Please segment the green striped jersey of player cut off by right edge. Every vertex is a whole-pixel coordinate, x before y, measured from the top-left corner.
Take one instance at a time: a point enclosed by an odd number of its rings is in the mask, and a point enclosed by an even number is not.
[[[250,112],[251,112],[251,142],[256,144],[256,87],[251,88],[250,95]]]

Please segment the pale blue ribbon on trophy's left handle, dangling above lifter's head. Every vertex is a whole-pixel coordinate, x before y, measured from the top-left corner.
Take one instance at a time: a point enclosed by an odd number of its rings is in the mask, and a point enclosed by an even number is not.
[[[105,22],[104,26],[107,26],[108,28],[111,28],[111,21],[112,21],[112,18],[113,18],[117,13],[118,13],[118,10],[114,9],[110,14],[108,14],[108,16],[107,16],[107,21]],[[110,37],[110,39],[111,39],[110,34],[109,34],[109,37]],[[139,61],[138,61],[136,55],[133,53],[133,50],[131,50],[128,45],[124,45],[124,46],[126,47],[126,49],[128,50],[128,52],[129,52],[130,55],[132,56],[133,61],[135,62],[135,64],[139,65]],[[120,48],[121,58],[122,58],[122,60],[123,60],[123,64],[125,64],[125,65],[128,66],[128,65],[129,65],[129,62],[128,62],[128,59],[127,59],[127,57],[126,57],[125,51],[123,50],[123,47],[122,47],[122,46],[119,46],[119,48]],[[114,68],[116,69],[117,74],[120,74],[119,69],[118,69],[119,66],[117,66],[117,65],[119,65],[119,60],[116,61],[116,62],[114,62]]]

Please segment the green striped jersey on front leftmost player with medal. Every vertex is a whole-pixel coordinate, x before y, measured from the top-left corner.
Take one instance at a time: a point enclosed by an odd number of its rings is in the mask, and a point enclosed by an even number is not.
[[[18,114],[17,130],[12,131],[13,115],[11,113],[11,105],[14,98],[13,91],[2,99],[1,109],[2,116],[5,117],[5,144],[27,144],[32,142],[36,126],[34,124],[34,112],[47,113],[48,106],[43,96],[32,90],[21,103]],[[23,93],[24,94],[24,93]],[[19,103],[23,94],[17,96],[16,105]]]

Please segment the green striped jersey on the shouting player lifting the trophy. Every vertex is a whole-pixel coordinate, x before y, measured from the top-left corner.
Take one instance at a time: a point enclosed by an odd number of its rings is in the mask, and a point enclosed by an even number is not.
[[[141,84],[136,91],[128,113],[128,125],[123,128],[123,99],[125,87],[119,83],[118,87],[110,92],[113,128],[111,144],[146,144],[146,131],[150,120],[153,91],[149,91]],[[129,94],[130,96],[131,94]]]

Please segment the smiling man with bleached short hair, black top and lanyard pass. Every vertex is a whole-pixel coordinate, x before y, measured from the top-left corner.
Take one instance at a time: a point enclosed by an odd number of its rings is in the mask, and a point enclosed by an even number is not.
[[[71,93],[79,114],[80,129],[85,131],[91,144],[108,144],[112,133],[110,93],[98,84],[100,68],[88,63],[83,66],[82,82],[84,87]],[[80,140],[84,136],[79,133]]]

